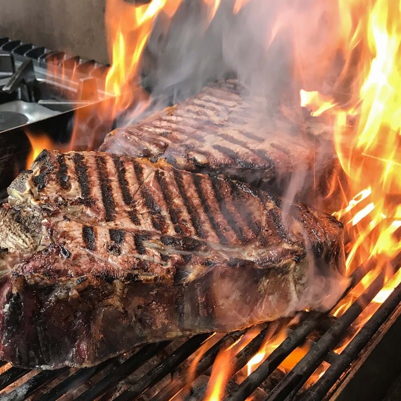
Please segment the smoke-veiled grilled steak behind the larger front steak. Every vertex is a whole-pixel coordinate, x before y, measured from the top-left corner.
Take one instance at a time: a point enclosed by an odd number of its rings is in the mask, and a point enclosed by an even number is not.
[[[183,170],[224,174],[277,193],[294,172],[304,170],[296,181],[305,181],[307,191],[324,189],[335,166],[327,126],[307,118],[301,107],[258,108],[256,100],[241,95],[244,91],[236,80],[207,86],[193,98],[114,130],[100,150],[165,158]]]

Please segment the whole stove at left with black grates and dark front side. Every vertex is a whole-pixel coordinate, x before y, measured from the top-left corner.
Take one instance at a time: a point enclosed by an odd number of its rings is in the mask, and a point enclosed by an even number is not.
[[[108,66],[94,60],[0,38],[0,157],[3,165],[14,166],[2,169],[0,199],[7,196],[5,188],[25,168],[31,149],[27,132],[46,133],[56,147],[63,147],[70,142],[75,125],[76,137],[85,144],[82,147],[91,143],[89,133],[97,141],[92,148],[101,143],[113,128],[113,122],[105,123],[97,113],[99,102],[111,99],[104,92],[107,70]],[[53,71],[58,73],[52,76]],[[69,79],[72,71],[73,81]],[[56,79],[63,74],[63,79]],[[89,100],[83,93],[95,95]],[[96,98],[98,101],[93,101]],[[82,126],[74,124],[77,110]]]

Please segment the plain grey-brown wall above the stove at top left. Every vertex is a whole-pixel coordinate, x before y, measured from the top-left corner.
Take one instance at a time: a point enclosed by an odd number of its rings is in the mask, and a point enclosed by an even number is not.
[[[106,0],[0,0],[0,36],[108,63]]]

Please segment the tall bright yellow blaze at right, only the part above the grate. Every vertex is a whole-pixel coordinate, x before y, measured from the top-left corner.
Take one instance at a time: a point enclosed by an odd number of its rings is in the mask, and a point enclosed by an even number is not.
[[[363,54],[370,57],[361,60],[358,97],[348,109],[332,111],[336,152],[351,193],[357,193],[334,214],[345,223],[352,241],[348,271],[373,257],[385,268],[388,259],[401,250],[397,235],[401,227],[401,181],[397,171],[401,162],[401,10],[399,5],[394,6],[378,0],[360,22],[366,27],[365,38],[361,38],[361,45],[366,47]],[[347,121],[355,110],[357,119],[350,125]]]

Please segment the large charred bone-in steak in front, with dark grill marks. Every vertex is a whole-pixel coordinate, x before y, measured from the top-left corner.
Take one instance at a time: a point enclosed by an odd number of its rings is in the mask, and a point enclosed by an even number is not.
[[[0,209],[0,359],[88,366],[319,305],[342,226],[164,160],[44,150]],[[283,212],[286,210],[286,212]]]

